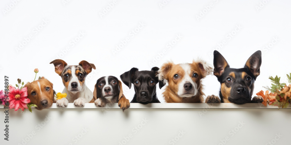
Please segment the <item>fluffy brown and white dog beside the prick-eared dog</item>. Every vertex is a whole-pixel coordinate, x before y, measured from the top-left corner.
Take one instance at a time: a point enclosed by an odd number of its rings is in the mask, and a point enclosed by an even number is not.
[[[167,103],[203,103],[203,85],[201,79],[211,75],[213,68],[198,59],[190,63],[174,64],[169,61],[159,70],[159,80],[168,82],[163,92]],[[160,82],[159,84],[162,84]],[[161,88],[161,86],[160,86]]]

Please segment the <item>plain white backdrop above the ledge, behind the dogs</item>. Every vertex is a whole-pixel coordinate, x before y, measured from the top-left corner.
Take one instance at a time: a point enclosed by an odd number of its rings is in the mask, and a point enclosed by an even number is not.
[[[262,50],[261,74],[255,81],[254,92],[270,85],[269,76],[278,75],[284,80],[290,73],[290,1],[268,1],[260,5],[260,0],[173,0],[161,6],[161,0],[131,0],[116,1],[110,8],[108,3],[112,2],[19,1],[14,5],[10,0],[1,1],[1,76],[9,76],[10,84],[16,84],[17,78],[32,81],[33,70],[38,68],[38,76],[45,76],[54,84],[54,89],[61,92],[64,87],[61,77],[49,62],[57,56],[68,65],[86,60],[97,67],[91,79],[86,80],[93,91],[96,80],[102,76],[119,78],[132,67],[150,70],[149,63],[164,49],[167,52],[154,66],[160,67],[168,60],[177,64],[190,63],[197,57],[212,64],[213,50],[217,49],[230,67],[241,68],[253,52]],[[13,7],[9,10],[10,6]],[[101,17],[104,8],[109,11]],[[203,12],[206,12],[204,16],[197,19]],[[48,22],[42,23],[43,20]],[[136,29],[139,23],[145,26]],[[242,28],[235,29],[237,26]],[[36,27],[41,28],[37,34]],[[139,32],[132,37],[130,32],[135,29]],[[79,41],[73,46],[71,41],[80,32],[85,35],[77,38]],[[231,32],[235,34],[233,37],[229,35]],[[17,51],[16,47],[19,48],[29,35],[32,35],[30,41]],[[176,35],[182,38],[169,50],[167,44]],[[114,55],[112,50],[127,37],[127,44]],[[278,41],[273,41],[274,38]],[[217,48],[224,40],[223,47]],[[272,47],[266,48],[269,44]],[[70,50],[65,52],[67,47]],[[208,76],[203,84],[206,95],[219,94],[220,84],[215,76]],[[125,96],[131,100],[133,88],[123,88]],[[158,89],[157,95],[164,102],[161,94],[162,90]]]

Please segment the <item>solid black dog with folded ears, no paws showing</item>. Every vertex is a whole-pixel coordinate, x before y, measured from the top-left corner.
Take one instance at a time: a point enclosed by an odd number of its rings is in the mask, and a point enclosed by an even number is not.
[[[138,68],[132,68],[120,75],[120,79],[129,88],[131,88],[131,84],[134,84],[135,94],[130,103],[161,103],[156,94],[156,85],[159,82],[158,70],[158,67],[153,67],[150,71],[139,71]],[[164,85],[164,83],[160,85]]]

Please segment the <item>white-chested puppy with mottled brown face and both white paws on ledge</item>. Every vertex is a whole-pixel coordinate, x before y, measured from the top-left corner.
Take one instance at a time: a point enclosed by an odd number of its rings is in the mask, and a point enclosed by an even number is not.
[[[68,103],[74,103],[75,106],[83,107],[92,99],[93,92],[85,85],[86,76],[91,73],[92,68],[96,69],[94,64],[87,61],[81,61],[79,65],[68,66],[68,64],[56,59],[49,64],[54,64],[55,72],[62,77],[65,86],[62,93],[67,97],[59,99],[56,104],[59,107],[68,106]]]

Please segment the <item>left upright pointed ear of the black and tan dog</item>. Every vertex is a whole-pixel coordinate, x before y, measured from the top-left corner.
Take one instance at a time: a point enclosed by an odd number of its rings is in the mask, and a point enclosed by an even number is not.
[[[213,74],[216,77],[220,77],[221,74],[224,72],[226,68],[229,68],[229,65],[225,58],[216,50],[213,52],[213,65],[214,65],[214,71]]]

